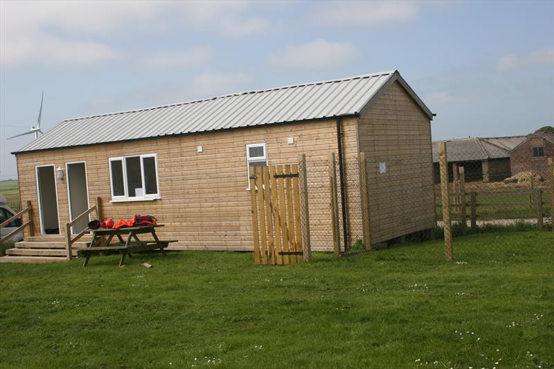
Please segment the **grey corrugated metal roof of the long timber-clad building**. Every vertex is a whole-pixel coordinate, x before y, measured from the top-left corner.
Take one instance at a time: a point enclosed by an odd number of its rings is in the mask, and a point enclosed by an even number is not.
[[[358,114],[385,85],[398,80],[386,71],[341,80],[234,93],[207,100],[64,120],[18,152],[110,143],[271,123]],[[431,111],[406,90],[432,119]]]

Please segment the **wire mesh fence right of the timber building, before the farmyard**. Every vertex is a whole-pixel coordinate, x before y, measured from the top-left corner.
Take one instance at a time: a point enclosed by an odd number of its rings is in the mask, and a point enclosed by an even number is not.
[[[467,138],[434,146],[437,224],[454,237],[494,231],[552,230],[554,210],[554,135]],[[443,161],[441,164],[440,161]],[[443,219],[447,216],[450,219]],[[445,221],[452,227],[445,227]],[[506,244],[473,248],[449,245],[447,258],[494,259]],[[552,245],[554,247],[554,235]],[[452,247],[454,251],[452,251]],[[530,242],[529,249],[543,247]],[[511,252],[511,251],[510,251]],[[515,255],[515,254],[514,254]]]

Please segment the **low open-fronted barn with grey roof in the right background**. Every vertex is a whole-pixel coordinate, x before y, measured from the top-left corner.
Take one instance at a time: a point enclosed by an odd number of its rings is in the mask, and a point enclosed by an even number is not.
[[[510,151],[525,140],[526,136],[469,137],[447,140],[449,178],[453,168],[463,166],[468,181],[502,181],[510,174]],[[439,179],[438,141],[433,143],[435,182]]]

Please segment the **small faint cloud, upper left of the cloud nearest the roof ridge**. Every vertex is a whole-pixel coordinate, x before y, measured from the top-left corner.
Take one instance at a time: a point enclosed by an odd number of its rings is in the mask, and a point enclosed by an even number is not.
[[[147,55],[144,59],[146,66],[151,68],[191,68],[206,65],[213,56],[213,50],[208,47],[192,48],[176,53],[157,53]]]

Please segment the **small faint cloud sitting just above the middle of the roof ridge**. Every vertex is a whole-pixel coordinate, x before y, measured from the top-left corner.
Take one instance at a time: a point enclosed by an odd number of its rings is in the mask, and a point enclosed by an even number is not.
[[[195,96],[213,96],[224,93],[238,92],[247,84],[252,82],[252,78],[246,73],[200,73],[193,77],[189,90]],[[193,92],[194,91],[194,92]]]

